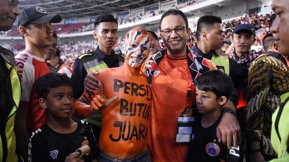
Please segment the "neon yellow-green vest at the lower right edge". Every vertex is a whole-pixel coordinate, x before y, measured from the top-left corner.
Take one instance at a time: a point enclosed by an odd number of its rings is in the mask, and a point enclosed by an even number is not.
[[[271,161],[289,161],[287,140],[289,135],[289,91],[281,94],[280,106],[272,116],[271,143],[278,158]],[[271,162],[270,161],[270,162]]]

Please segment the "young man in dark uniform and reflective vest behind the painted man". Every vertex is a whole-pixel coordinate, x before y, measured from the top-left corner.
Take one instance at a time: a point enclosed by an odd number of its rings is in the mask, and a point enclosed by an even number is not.
[[[71,80],[75,99],[78,99],[83,93],[83,81],[88,73],[93,70],[119,67],[125,60],[123,56],[115,54],[112,50],[118,39],[118,20],[111,14],[105,14],[96,18],[94,26],[93,36],[99,43],[97,49],[80,55],[73,66]],[[91,125],[98,141],[101,130],[101,114],[95,113],[85,120]]]

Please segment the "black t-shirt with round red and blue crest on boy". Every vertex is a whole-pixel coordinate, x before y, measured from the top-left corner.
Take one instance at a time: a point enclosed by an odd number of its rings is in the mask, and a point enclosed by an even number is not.
[[[217,126],[222,114],[217,121],[208,128],[201,126],[203,114],[196,112],[193,125],[193,140],[189,143],[187,161],[240,161],[243,157],[238,149],[228,149],[226,145],[218,142],[216,135]]]

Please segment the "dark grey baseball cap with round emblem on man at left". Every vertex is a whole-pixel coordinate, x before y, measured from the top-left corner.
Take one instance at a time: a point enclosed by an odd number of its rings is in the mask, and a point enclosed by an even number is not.
[[[48,14],[44,9],[39,6],[26,7],[17,16],[16,24],[17,27],[26,24],[42,24],[50,21],[51,23],[59,23],[62,18],[57,14]]]

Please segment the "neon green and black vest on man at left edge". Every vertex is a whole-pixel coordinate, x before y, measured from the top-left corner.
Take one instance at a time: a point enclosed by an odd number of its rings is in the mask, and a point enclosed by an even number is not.
[[[16,62],[14,59],[14,55],[7,49],[2,48],[2,50],[4,51],[4,53],[0,53],[1,55],[0,57],[3,57],[3,59],[5,60],[5,65],[9,70],[8,83],[11,85],[11,90],[8,90],[8,91],[10,91],[13,97],[13,107],[6,120],[5,132],[1,132],[0,161],[7,161],[7,162],[15,161],[16,162],[18,161],[18,157],[16,154],[14,119],[15,119],[16,110],[19,106],[19,101],[20,101],[20,96],[21,96],[21,83],[17,74],[17,66],[16,66]]]

